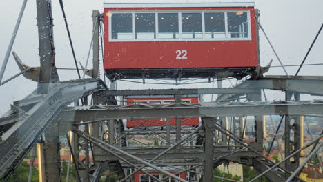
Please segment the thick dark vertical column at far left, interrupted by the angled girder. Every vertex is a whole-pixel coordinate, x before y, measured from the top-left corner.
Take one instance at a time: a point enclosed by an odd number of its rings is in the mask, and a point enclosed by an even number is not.
[[[39,80],[37,94],[47,94],[49,83],[59,81],[55,67],[55,46],[53,38],[52,2],[50,0],[36,0],[37,27],[39,36]],[[43,171],[40,179],[44,181],[60,181],[60,156],[59,156],[59,128],[57,122],[50,125],[45,133],[41,158]]]

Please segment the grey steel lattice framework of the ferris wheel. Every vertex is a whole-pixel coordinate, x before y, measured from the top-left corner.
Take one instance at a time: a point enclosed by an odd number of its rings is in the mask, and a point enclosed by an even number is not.
[[[322,147],[319,142],[322,134],[303,145],[302,116],[322,115],[323,101],[300,101],[300,94],[322,96],[323,77],[268,76],[243,81],[233,88],[222,88],[219,83],[219,88],[213,89],[115,90],[112,83],[108,90],[98,79],[99,11],[93,11],[92,17],[94,69],[84,68],[92,79],[59,82],[53,59],[51,3],[37,0],[41,57],[37,73],[39,84],[37,90],[25,99],[15,101],[11,110],[0,118],[0,154],[3,156],[0,176],[4,181],[35,145],[41,161],[41,180],[59,181],[59,135],[66,135],[71,156],[69,162],[75,165],[77,181],[99,181],[106,171],[117,174],[120,181],[133,181],[136,172],[155,181],[166,181],[166,176],[178,181],[213,181],[213,178],[223,179],[213,176],[213,168],[229,162],[253,166],[261,173],[257,178],[264,175],[271,181],[302,181],[295,175],[304,168],[300,163],[301,150],[314,145],[306,159],[309,161]],[[15,58],[19,59],[17,54]],[[28,69],[22,74],[31,79],[26,76]],[[286,101],[262,101],[263,89],[286,92]],[[181,100],[186,94],[218,94],[218,97],[211,103],[188,104]],[[118,105],[116,99],[152,95],[169,95],[175,98],[175,102]],[[240,101],[240,97],[246,97],[247,101]],[[284,166],[273,163],[262,153],[266,115],[285,116],[285,154],[280,162]],[[255,140],[252,142],[246,142],[245,138],[247,116],[253,117],[255,125]],[[185,122],[181,119],[193,117],[199,117],[201,123],[181,125]],[[133,128],[124,126],[126,119],[155,119],[153,122],[157,122],[159,118],[166,119],[166,124],[152,127],[137,122]],[[170,125],[170,118],[176,119],[175,125]],[[228,124],[230,119],[232,128]],[[136,136],[153,136],[160,144],[151,146],[138,141]],[[84,159],[79,158],[81,153]],[[150,171],[166,176],[160,179]],[[177,175],[182,173],[186,174],[186,179]]]

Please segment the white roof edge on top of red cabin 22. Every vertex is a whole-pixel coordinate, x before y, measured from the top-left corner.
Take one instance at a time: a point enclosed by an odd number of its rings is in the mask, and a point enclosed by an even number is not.
[[[254,7],[251,0],[106,0],[104,8]]]

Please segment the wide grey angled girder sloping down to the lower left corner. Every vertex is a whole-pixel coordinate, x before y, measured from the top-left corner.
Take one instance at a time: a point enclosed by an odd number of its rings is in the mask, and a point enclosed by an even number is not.
[[[48,128],[48,125],[59,115],[66,105],[88,94],[101,90],[100,82],[88,80],[85,83],[52,83],[52,88],[43,101],[33,105],[28,111],[28,117],[19,121],[19,127],[12,126],[14,132],[1,141],[0,176],[10,174],[17,167],[19,161],[32,148],[39,136]],[[18,122],[18,123],[19,123]],[[13,166],[12,166],[13,165]],[[11,167],[10,167],[11,166]]]

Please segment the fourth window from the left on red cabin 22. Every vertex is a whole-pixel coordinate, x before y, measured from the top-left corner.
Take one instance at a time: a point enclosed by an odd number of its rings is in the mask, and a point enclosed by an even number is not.
[[[182,38],[201,39],[202,13],[182,13]]]

